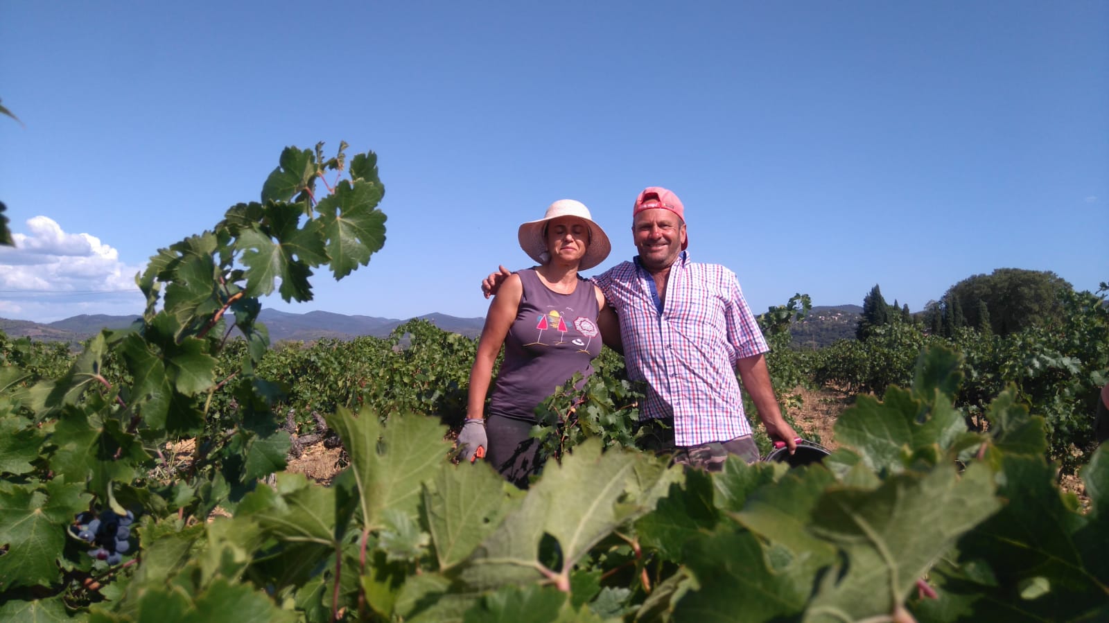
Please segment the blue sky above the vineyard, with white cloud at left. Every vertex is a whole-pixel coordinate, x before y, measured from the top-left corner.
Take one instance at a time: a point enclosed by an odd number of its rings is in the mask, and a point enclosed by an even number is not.
[[[387,241],[315,299],[482,316],[558,198],[634,254],[649,185],[763,312],[1000,267],[1109,280],[1109,2],[0,4],[0,317],[138,314],[160,247],[286,145],[378,154]]]

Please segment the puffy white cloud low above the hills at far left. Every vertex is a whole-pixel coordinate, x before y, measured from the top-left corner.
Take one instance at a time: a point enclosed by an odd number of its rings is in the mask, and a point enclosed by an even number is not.
[[[143,298],[134,283],[142,266],[90,234],[68,234],[52,218],[35,216],[27,233],[0,246],[0,316],[40,320],[79,314],[134,314]]]

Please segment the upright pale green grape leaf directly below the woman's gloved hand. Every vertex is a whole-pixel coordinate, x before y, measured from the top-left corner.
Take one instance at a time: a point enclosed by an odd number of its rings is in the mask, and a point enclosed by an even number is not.
[[[518,492],[515,487],[506,488],[505,479],[485,461],[440,469],[424,488],[439,570],[466,560],[505,515],[519,508]]]

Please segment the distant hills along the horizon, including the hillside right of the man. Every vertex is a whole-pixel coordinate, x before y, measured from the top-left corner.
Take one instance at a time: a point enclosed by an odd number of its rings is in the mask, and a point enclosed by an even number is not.
[[[863,308],[858,305],[816,306],[808,317],[791,328],[794,346],[821,348],[836,339],[855,337]],[[446,314],[427,314],[419,318],[430,320],[442,330],[478,337],[485,318],[459,318]],[[81,344],[101,329],[122,329],[135,321],[135,316],[73,316],[64,320],[39,324],[30,320],[0,318],[0,331],[9,337],[30,337],[40,341],[68,341]],[[397,318],[376,316],[346,316],[330,312],[289,314],[263,309],[258,319],[269,329],[269,341],[314,341],[321,338],[354,339],[358,336],[388,337],[393,329],[407,323]]]

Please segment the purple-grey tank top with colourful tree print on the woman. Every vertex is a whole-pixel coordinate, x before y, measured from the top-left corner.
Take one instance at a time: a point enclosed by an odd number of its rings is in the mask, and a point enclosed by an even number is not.
[[[535,408],[573,372],[593,374],[591,361],[601,354],[599,308],[593,283],[581,276],[572,293],[559,294],[545,286],[532,268],[517,274],[523,294],[505,338],[505,360],[489,413],[536,421]]]

